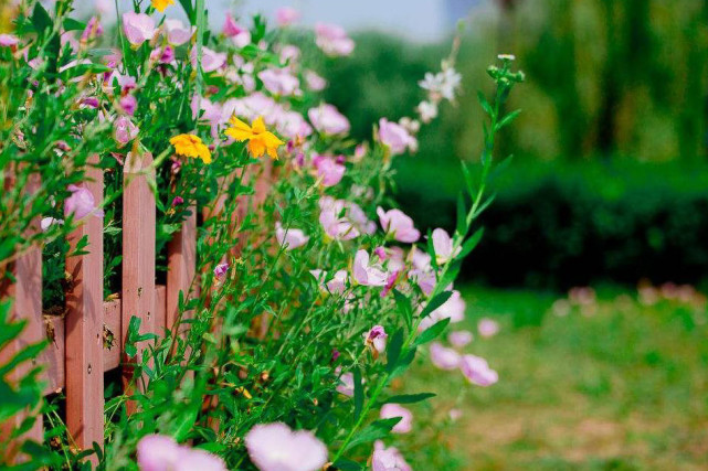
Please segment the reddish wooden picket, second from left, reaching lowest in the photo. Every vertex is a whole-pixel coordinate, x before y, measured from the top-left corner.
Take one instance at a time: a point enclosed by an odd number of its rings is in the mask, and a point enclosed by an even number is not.
[[[89,163],[97,164],[98,156]],[[86,170],[85,188],[103,201],[103,170]],[[103,214],[103,213],[102,213]],[[103,215],[89,214],[68,237],[72,250],[87,237],[87,254],[67,257],[72,289],[66,293],[66,426],[81,449],[103,446]]]

